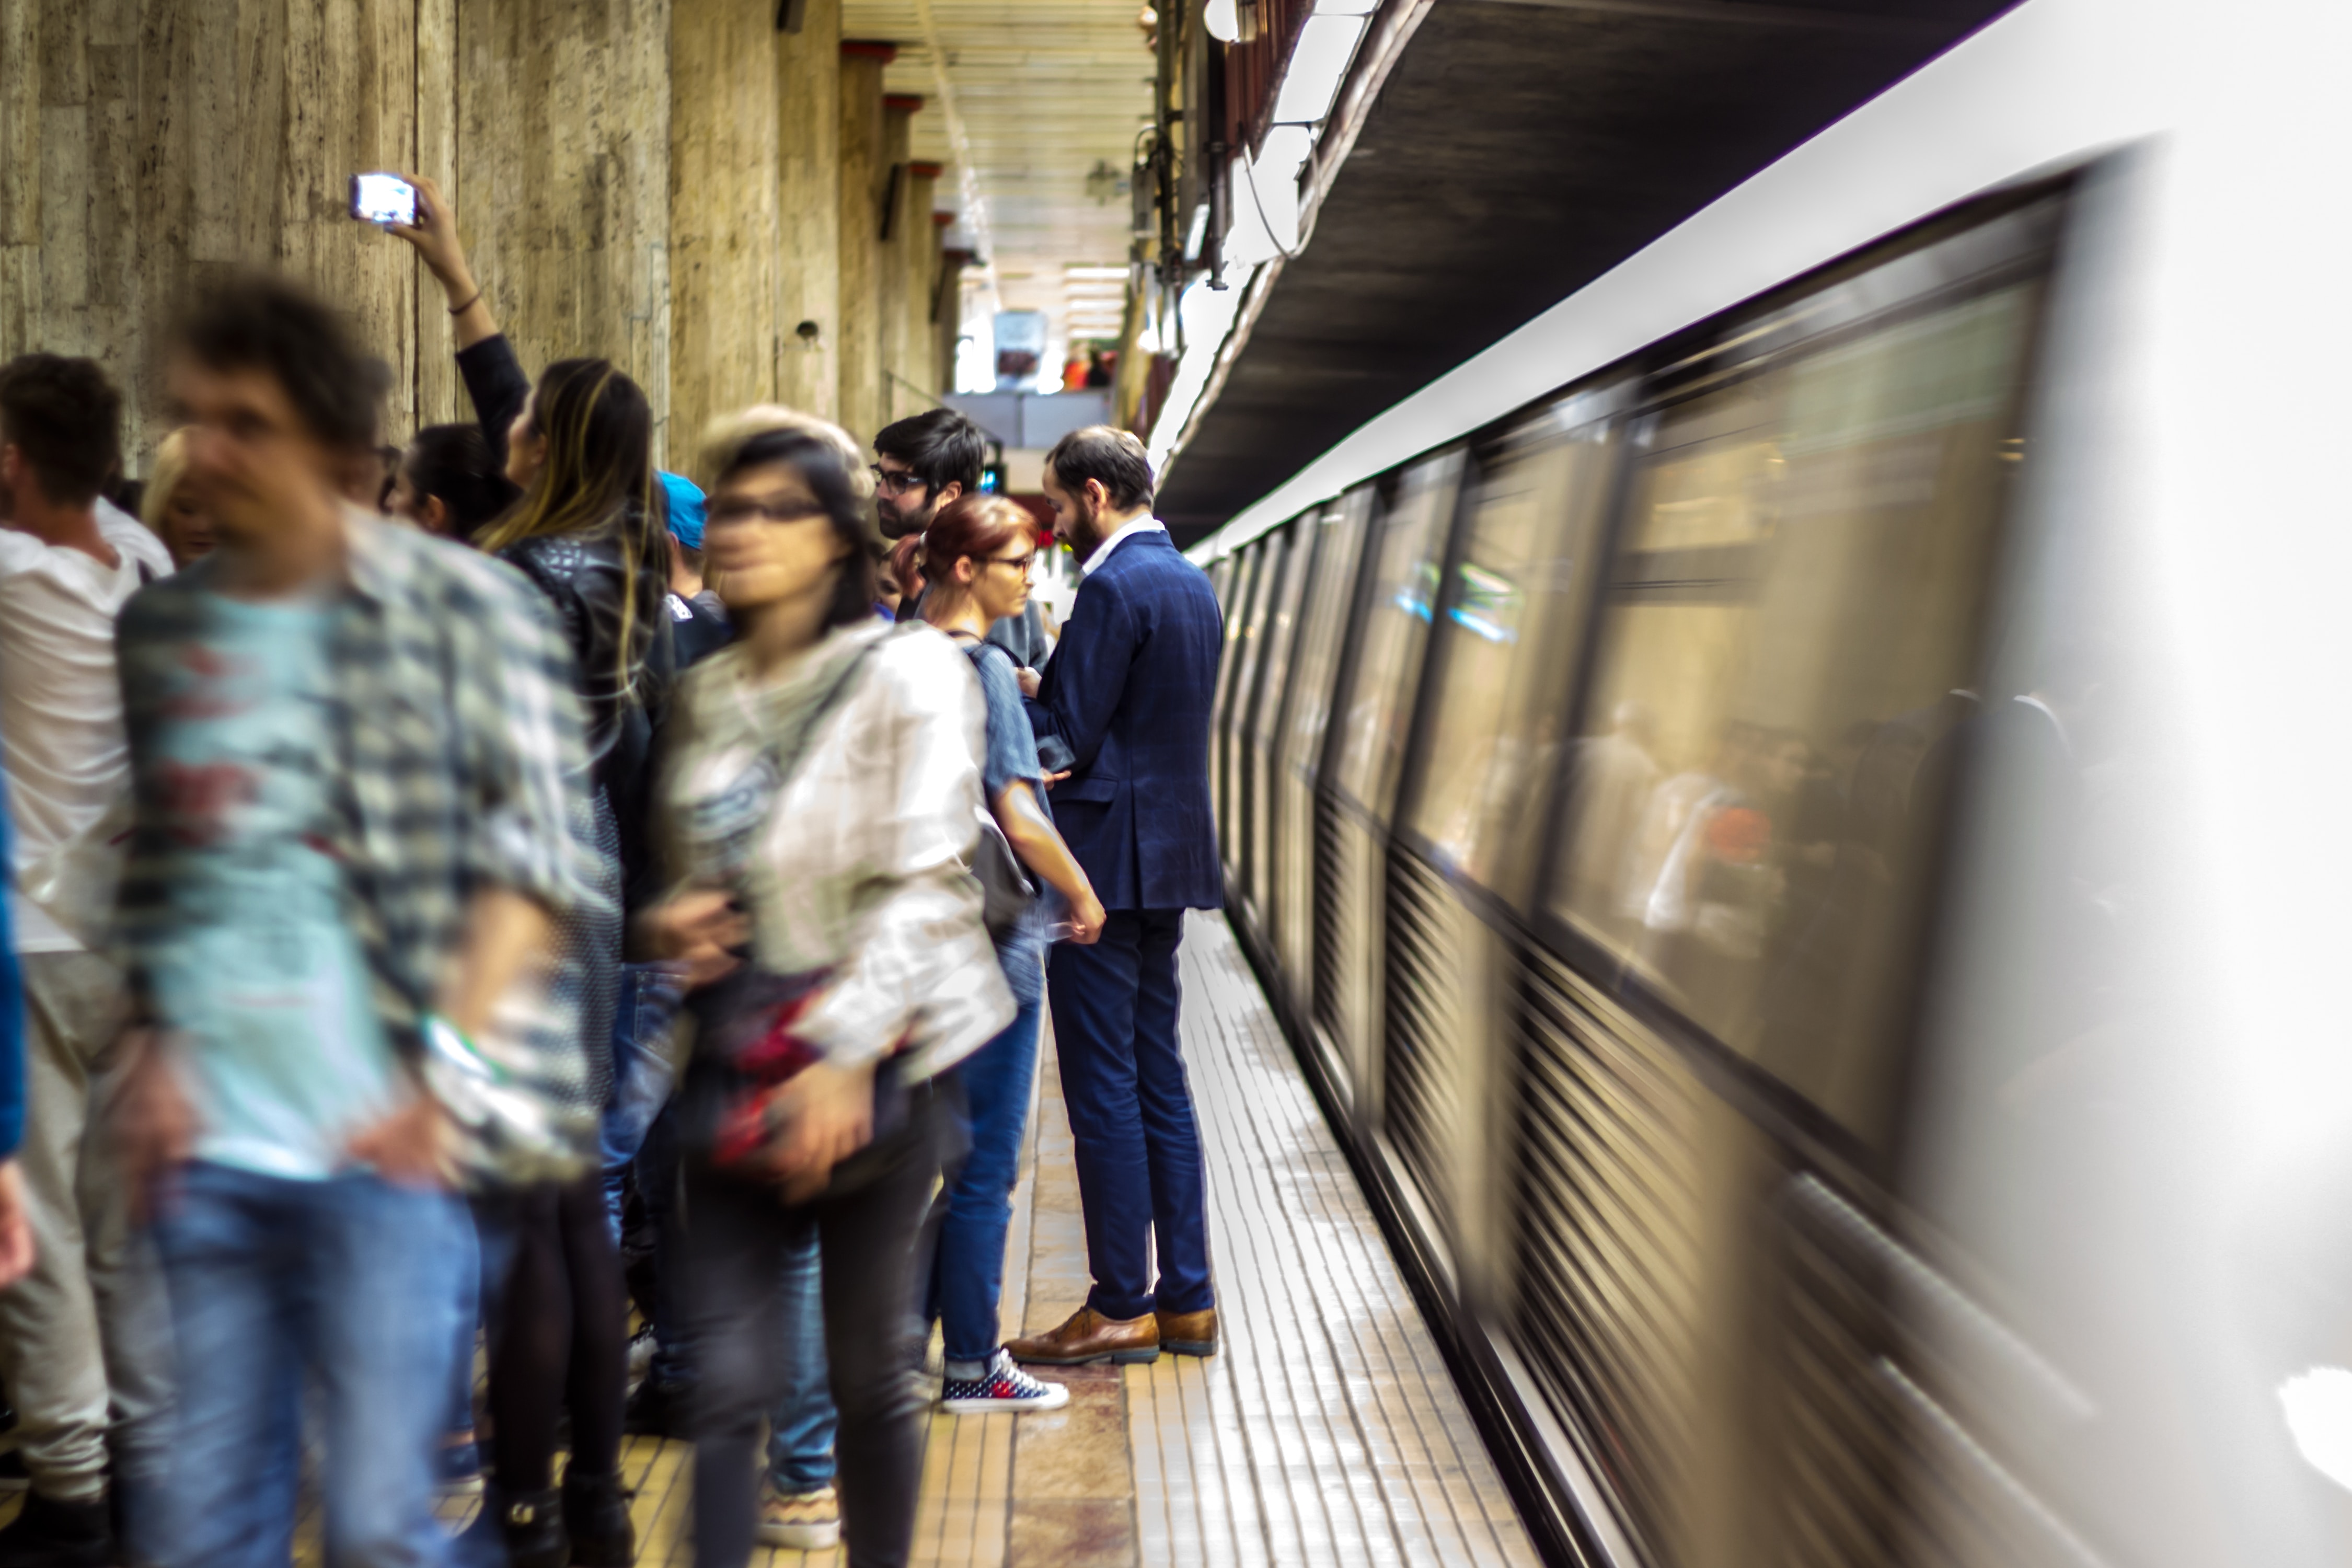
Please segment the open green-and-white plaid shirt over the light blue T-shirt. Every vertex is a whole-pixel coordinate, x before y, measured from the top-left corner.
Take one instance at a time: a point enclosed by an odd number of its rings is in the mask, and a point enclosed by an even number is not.
[[[586,780],[572,654],[541,595],[510,567],[346,510],[336,602],[334,827],[376,1011],[402,1048],[456,947],[475,889],[503,886],[562,912],[588,891],[567,830]],[[141,1013],[148,969],[183,922],[186,856],[162,825],[158,731],[169,675],[212,616],[219,557],[139,590],[115,628],[134,830],[120,940]],[[167,1018],[160,1023],[169,1023]]]

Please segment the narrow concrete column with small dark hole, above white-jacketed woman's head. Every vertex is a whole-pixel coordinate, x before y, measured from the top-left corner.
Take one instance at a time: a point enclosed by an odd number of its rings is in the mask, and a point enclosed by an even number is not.
[[[776,33],[776,400],[840,414],[842,0]]]

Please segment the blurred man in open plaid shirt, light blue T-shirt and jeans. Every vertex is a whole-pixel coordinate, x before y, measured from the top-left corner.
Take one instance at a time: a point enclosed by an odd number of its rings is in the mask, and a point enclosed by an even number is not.
[[[285,1561],[308,1368],[327,1556],[440,1563],[466,1253],[416,1032],[485,1030],[590,896],[569,654],[506,567],[343,501],[379,376],[325,306],[233,282],[169,381],[221,543],[129,602],[118,663],[146,1020],[120,1131],[179,1338],[174,1556]]]

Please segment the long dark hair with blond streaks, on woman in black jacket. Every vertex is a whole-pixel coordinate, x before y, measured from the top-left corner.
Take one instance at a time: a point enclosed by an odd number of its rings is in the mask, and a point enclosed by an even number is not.
[[[626,583],[614,679],[626,693],[652,642],[652,623],[640,625],[640,583],[668,576],[654,527],[654,407],[612,360],[557,360],[532,390],[532,430],[546,437],[548,461],[473,543],[496,552],[524,538],[616,531]]]

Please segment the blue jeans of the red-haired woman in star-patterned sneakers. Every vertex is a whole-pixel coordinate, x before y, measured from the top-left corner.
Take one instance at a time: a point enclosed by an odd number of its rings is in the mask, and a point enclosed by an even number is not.
[[[971,1152],[943,1194],[948,1220],[931,1265],[931,1307],[948,1361],[985,1361],[997,1352],[997,1298],[1004,1293],[1004,1232],[1021,1178],[1021,1133],[1037,1081],[1042,1001],[1023,1001],[1004,1032],[957,1063],[971,1117]]]

